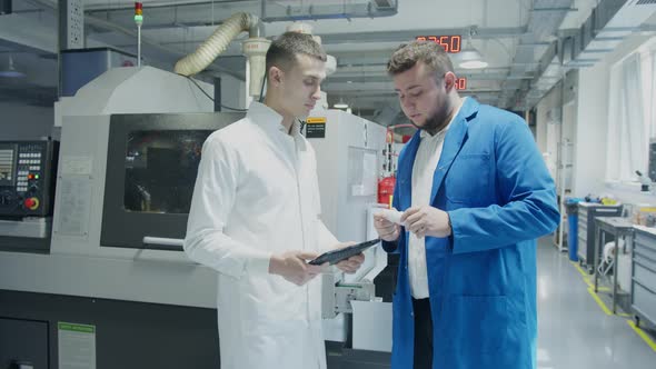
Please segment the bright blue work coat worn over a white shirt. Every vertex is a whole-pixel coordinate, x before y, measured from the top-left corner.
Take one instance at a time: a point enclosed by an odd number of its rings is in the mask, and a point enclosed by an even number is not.
[[[394,207],[411,206],[419,132],[401,150]],[[445,137],[430,205],[453,233],[426,237],[434,369],[536,368],[536,238],[559,220],[554,181],[526,122],[467,98]],[[394,293],[394,369],[413,368],[408,232]]]

